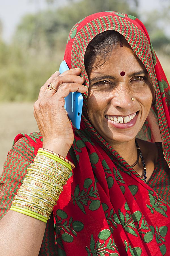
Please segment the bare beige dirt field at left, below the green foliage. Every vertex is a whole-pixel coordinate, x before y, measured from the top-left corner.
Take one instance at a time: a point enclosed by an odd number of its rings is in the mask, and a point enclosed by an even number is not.
[[[3,103],[0,104],[0,174],[12,146],[14,137],[18,133],[39,131],[33,115],[33,103]]]

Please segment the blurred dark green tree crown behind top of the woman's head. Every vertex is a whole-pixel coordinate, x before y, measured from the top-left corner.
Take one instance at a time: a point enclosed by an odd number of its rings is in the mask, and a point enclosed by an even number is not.
[[[55,0],[47,0],[54,3]],[[47,53],[57,48],[64,50],[63,42],[72,26],[82,18],[100,11],[114,10],[136,15],[138,0],[67,0],[67,5],[55,11],[44,11],[36,15],[25,16],[15,33],[15,42],[22,48]]]

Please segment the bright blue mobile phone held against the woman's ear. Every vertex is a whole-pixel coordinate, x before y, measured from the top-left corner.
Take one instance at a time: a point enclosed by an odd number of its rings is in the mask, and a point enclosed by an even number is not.
[[[59,67],[60,74],[66,70],[69,70],[69,67],[65,61],[62,61]],[[67,111],[71,122],[77,129],[80,129],[82,107],[83,96],[80,92],[70,92],[69,95],[65,97],[64,108]]]

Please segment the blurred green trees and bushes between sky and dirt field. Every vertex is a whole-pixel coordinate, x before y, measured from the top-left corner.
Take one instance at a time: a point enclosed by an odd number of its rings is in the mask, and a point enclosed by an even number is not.
[[[162,12],[153,10],[142,17],[139,0],[67,0],[60,8],[55,7],[55,0],[47,1],[48,10],[24,16],[10,44],[0,39],[0,101],[36,100],[41,85],[59,69],[72,26],[95,12],[118,11],[139,17],[154,48],[165,61],[170,56],[170,38],[164,30],[170,18],[166,0]]]

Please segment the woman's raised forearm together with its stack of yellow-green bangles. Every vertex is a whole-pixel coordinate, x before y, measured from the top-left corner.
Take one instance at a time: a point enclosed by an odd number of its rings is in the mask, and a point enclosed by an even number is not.
[[[0,221],[0,255],[38,255],[46,224],[74,165],[40,148],[11,210]],[[28,215],[28,216],[27,216]]]

